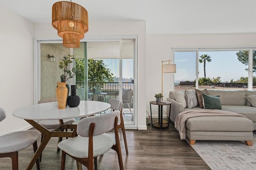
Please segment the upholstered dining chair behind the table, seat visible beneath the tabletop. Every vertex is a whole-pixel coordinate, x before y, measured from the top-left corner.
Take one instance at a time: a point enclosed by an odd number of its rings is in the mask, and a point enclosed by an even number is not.
[[[38,102],[38,104],[41,103],[48,103],[48,102],[57,102],[57,98],[48,98],[48,99],[42,99]],[[64,124],[72,124],[76,121],[76,119],[71,118],[71,119],[63,119]],[[38,121],[38,124],[42,125],[46,129],[55,129],[60,125],[59,120],[40,120]],[[67,130],[67,129],[66,129]],[[43,139],[43,135],[41,136],[41,141]],[[62,137],[59,137],[58,143],[62,141]],[[59,152],[60,149],[57,147],[57,152]],[[40,162],[41,162],[42,156],[40,156]]]

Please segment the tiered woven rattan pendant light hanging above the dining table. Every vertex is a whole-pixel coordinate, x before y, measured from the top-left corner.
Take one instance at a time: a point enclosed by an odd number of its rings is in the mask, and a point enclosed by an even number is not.
[[[52,26],[63,38],[65,47],[80,47],[80,39],[88,31],[88,12],[74,2],[56,2],[52,5]]]

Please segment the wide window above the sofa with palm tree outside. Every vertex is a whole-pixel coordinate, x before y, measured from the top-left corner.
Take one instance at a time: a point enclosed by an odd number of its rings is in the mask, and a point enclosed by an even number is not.
[[[176,64],[174,90],[256,90],[256,77],[250,74],[256,72],[256,51],[252,47],[218,50],[196,48],[195,51],[172,49]],[[195,86],[193,82],[196,82]]]

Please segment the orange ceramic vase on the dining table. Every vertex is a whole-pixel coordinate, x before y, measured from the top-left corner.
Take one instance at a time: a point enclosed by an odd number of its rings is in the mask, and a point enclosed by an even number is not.
[[[65,109],[67,97],[68,97],[68,88],[66,87],[67,83],[59,82],[57,84],[58,84],[58,87],[56,88],[56,97],[57,97],[57,102],[58,102],[58,108]]]

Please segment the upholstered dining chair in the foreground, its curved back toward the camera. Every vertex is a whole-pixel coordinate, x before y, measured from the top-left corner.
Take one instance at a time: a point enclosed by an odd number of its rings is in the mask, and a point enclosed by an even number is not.
[[[62,149],[61,170],[65,169],[66,155],[72,157],[93,170],[97,169],[97,156],[113,149],[117,152],[120,170],[124,169],[122,153],[118,136],[118,119],[120,111],[108,114],[85,117],[77,124],[77,137],[61,141],[58,147]],[[114,129],[115,141],[112,136],[106,134]]]

